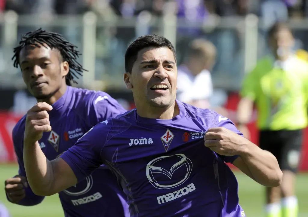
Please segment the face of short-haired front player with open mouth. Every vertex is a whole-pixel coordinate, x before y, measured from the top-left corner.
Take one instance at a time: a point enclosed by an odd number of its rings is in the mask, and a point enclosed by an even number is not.
[[[177,82],[173,52],[168,47],[140,50],[132,73],[125,73],[124,81],[132,89],[136,106],[170,106],[176,98]]]

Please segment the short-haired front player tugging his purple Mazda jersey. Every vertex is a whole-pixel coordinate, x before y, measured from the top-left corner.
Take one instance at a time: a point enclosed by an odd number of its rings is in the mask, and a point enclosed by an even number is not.
[[[39,102],[27,112],[24,163],[35,194],[62,191],[105,163],[128,196],[131,216],[243,217],[237,180],[225,162],[265,186],[280,184],[274,155],[229,119],[176,100],[176,53],[168,39],[137,38],[126,50],[125,70],[136,109],[91,128],[55,160],[46,159],[38,142],[53,129],[52,106]]]

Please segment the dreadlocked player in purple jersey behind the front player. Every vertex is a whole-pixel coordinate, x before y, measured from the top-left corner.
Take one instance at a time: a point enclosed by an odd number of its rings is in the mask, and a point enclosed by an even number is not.
[[[49,160],[67,151],[97,123],[125,112],[115,99],[104,92],[71,87],[71,83],[76,82],[76,75],[82,75],[83,72],[77,62],[79,55],[76,46],[62,35],[42,29],[24,35],[19,46],[14,49],[14,66],[20,66],[30,93],[38,102],[46,102],[53,107],[52,111],[45,114],[49,117],[48,123],[52,130],[44,133],[38,141],[40,150]],[[44,114],[38,115],[43,117]],[[24,132],[28,128],[25,115],[13,129],[19,171],[18,175],[5,182],[7,199],[23,206],[33,206],[44,199],[33,193],[26,180],[23,143]],[[58,177],[53,176],[52,179]],[[45,184],[40,185],[42,190],[46,187],[48,189]],[[59,198],[66,217],[129,215],[125,201],[127,197],[106,167],[99,166],[92,174],[79,180],[78,184],[76,182],[72,187],[61,190]]]

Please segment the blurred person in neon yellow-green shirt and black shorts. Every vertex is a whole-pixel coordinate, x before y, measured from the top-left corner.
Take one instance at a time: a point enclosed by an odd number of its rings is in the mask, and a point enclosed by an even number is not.
[[[293,44],[288,26],[284,23],[272,26],[269,45],[273,56],[259,60],[247,74],[238,106],[239,129],[244,129],[256,102],[260,147],[276,156],[283,172],[279,187],[266,188],[267,217],[298,215],[295,178],[302,149],[302,129],[308,123],[308,68],[306,61],[292,53]]]

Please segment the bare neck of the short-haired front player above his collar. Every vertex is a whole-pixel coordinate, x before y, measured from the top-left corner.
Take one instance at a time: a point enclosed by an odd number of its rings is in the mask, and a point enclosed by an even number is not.
[[[137,114],[143,118],[169,120],[180,114],[179,106],[174,100],[167,108],[153,106],[138,106],[136,104]]]

